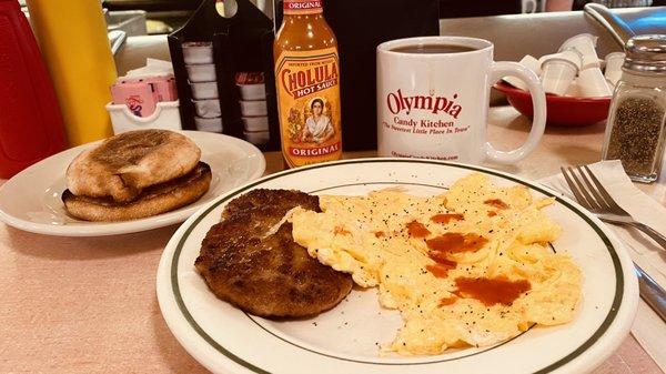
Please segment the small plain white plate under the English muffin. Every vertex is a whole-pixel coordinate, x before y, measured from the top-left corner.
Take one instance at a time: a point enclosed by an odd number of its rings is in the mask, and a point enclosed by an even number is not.
[[[201,149],[211,166],[209,191],[196,202],[160,215],[124,222],[87,222],[69,216],[62,204],[64,172],[70,162],[94,143],[54,154],[23,170],[0,186],[0,220],[20,230],[61,236],[102,236],[132,233],[180,223],[220,194],[260,178],[265,160],[256,146],[238,138],[182,131]]]

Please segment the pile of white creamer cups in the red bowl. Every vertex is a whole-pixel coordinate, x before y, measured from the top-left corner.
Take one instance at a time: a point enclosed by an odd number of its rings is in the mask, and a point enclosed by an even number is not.
[[[519,63],[541,77],[546,93],[576,98],[601,98],[613,94],[613,88],[622,75],[625,54],[614,52],[606,55],[605,72],[596,53],[597,37],[582,33],[567,39],[557,53],[541,59],[525,55]],[[527,85],[515,77],[504,81],[527,90]]]

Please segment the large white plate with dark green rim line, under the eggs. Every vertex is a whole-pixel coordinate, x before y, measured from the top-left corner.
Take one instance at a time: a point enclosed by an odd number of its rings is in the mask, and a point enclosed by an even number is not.
[[[547,214],[563,226],[555,250],[583,270],[583,300],[572,323],[535,327],[511,341],[447,351],[435,356],[377,354],[402,322],[382,310],[374,290],[353,290],[333,310],[305,320],[271,321],[216,299],[195,272],[194,260],[224,205],[252,189],[364,194],[402,185],[435,194],[474,171],[498,185],[527,185],[535,196],[556,196]],[[216,373],[584,373],[606,360],[629,332],[638,302],[632,261],[615,235],[571,200],[537,183],[464,164],[410,159],[366,159],[317,164],[265,176],[220,196],[191,216],[162,255],[157,279],[164,320],[179,342]]]

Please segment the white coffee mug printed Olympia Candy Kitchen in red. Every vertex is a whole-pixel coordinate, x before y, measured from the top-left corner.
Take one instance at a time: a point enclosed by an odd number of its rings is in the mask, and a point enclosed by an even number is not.
[[[457,46],[444,53],[405,52],[417,46]],[[396,51],[403,49],[403,51]],[[534,103],[532,130],[513,151],[486,142],[491,85],[503,77],[525,81]],[[546,124],[546,97],[536,74],[515,62],[494,62],[493,43],[462,37],[424,37],[377,47],[380,156],[513,163],[532,152]]]

